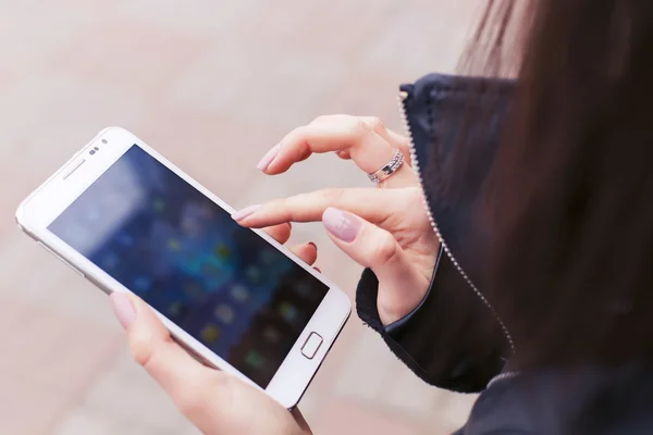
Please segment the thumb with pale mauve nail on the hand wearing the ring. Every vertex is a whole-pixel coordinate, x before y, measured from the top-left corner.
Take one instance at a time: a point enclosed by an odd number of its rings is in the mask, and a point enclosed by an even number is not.
[[[379,278],[377,304],[384,325],[402,319],[421,302],[429,283],[391,233],[334,208],[324,211],[322,223],[338,248]]]

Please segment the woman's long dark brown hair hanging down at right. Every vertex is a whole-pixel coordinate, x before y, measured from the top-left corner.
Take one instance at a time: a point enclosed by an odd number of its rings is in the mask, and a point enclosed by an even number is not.
[[[518,65],[485,293],[521,368],[653,358],[653,2],[518,3],[489,3],[463,63]]]

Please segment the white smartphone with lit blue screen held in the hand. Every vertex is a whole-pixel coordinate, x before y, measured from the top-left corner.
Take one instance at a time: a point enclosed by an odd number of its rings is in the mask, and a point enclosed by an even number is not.
[[[349,298],[130,132],[102,130],[16,212],[21,228],[107,294],[131,291],[202,362],[291,409]]]

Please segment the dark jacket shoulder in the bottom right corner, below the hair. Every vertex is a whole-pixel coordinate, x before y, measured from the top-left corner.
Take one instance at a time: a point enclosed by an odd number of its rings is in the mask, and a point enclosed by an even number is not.
[[[460,435],[651,434],[653,366],[549,370],[493,383]]]

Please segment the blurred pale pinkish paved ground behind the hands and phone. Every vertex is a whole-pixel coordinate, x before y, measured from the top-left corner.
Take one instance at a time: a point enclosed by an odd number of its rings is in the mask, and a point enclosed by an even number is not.
[[[316,156],[274,178],[259,158],[319,114],[403,132],[397,87],[452,72],[480,0],[0,0],[0,434],[194,434],[132,360],[106,296],[22,235],[19,202],[119,125],[239,208],[368,186]],[[318,265],[360,269],[320,225]],[[447,434],[473,396],[421,383],[353,315],[300,409],[316,434]]]

